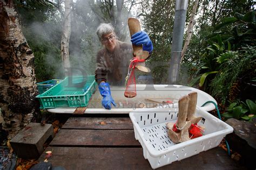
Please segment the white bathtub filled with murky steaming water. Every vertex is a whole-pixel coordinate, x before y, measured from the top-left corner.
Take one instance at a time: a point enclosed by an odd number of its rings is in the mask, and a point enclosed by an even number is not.
[[[133,98],[126,98],[124,96],[124,87],[111,87],[111,95],[116,102],[117,106],[112,107],[111,110],[104,109],[101,104],[102,96],[99,94],[98,89],[92,95],[90,104],[87,105],[85,113],[87,114],[127,114],[129,112],[140,112],[145,108],[164,108],[166,111],[169,108],[177,108],[178,101],[181,96],[184,96],[192,91],[198,93],[197,105],[201,107],[207,101],[213,101],[217,104],[216,100],[209,94],[196,88],[180,86],[180,85],[164,85],[164,84],[137,84],[137,96]],[[153,100],[155,102],[149,102]],[[161,102],[168,101],[168,104]],[[172,103],[171,103],[172,102]],[[211,111],[215,109],[214,104],[208,103],[201,109]],[[72,114],[76,108],[54,108],[48,109],[49,112],[54,113],[67,113]]]

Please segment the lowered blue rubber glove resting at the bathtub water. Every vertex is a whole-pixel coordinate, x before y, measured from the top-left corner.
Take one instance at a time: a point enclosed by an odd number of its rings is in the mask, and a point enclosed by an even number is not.
[[[99,92],[103,96],[102,105],[105,109],[111,109],[111,103],[116,107],[116,103],[111,96],[109,83],[101,82],[99,83]]]

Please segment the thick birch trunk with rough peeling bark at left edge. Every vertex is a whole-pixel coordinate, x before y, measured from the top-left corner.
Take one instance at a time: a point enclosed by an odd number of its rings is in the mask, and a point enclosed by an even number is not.
[[[12,1],[0,1],[0,108],[12,138],[36,114],[34,56]]]

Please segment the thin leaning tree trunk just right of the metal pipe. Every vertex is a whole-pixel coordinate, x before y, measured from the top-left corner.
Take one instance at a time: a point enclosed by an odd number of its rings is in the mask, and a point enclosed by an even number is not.
[[[182,62],[182,60],[184,58],[184,54],[187,51],[187,47],[190,44],[191,36],[192,36],[192,33],[193,33],[193,27],[194,27],[194,17],[196,16],[198,2],[199,2],[199,0],[196,0],[194,2],[194,5],[193,5],[193,9],[192,9],[191,16],[190,16],[190,23],[188,24],[188,27],[187,27],[187,37],[186,37],[186,40],[185,40],[185,43],[184,43],[184,47],[181,51],[180,63]]]

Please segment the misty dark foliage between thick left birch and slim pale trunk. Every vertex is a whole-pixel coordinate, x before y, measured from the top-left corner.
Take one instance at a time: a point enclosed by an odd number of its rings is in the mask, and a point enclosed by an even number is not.
[[[59,12],[48,1],[14,1],[23,34],[35,56],[37,82],[62,79]]]

